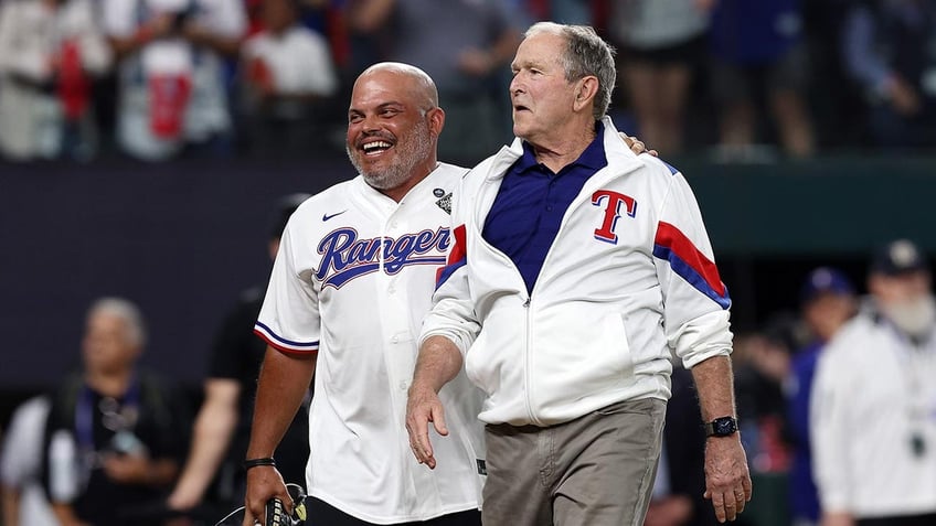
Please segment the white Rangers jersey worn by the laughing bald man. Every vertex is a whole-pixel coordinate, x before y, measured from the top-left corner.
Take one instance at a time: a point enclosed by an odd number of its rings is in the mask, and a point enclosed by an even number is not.
[[[439,164],[400,203],[361,176],[309,198],[284,232],[256,324],[283,352],[318,352],[308,493],[371,523],[480,505],[482,396],[465,375],[439,393],[449,436],[433,440],[435,470],[413,458],[404,423],[416,339],[465,172]]]

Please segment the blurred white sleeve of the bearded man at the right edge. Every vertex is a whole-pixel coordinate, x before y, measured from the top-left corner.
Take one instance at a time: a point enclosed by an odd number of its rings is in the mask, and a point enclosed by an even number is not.
[[[848,511],[853,480],[849,466],[849,433],[851,432],[848,375],[841,374],[848,348],[838,352],[834,340],[819,355],[809,407],[809,434],[812,449],[812,472],[822,509]]]

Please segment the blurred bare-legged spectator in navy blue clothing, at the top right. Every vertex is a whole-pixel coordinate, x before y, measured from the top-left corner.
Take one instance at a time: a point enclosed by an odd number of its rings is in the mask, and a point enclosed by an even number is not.
[[[764,128],[758,117],[770,116],[787,154],[812,153],[801,26],[799,0],[715,0],[710,74],[721,106],[720,150],[726,159],[746,160],[755,153]],[[769,106],[770,116],[757,115],[763,106]]]

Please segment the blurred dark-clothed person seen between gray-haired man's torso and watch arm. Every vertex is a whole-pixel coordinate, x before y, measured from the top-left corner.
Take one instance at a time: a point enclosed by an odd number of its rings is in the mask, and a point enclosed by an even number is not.
[[[699,421],[692,374],[680,361],[673,362],[671,382],[663,448],[644,526],[714,526],[715,514],[702,496],[705,432]]]

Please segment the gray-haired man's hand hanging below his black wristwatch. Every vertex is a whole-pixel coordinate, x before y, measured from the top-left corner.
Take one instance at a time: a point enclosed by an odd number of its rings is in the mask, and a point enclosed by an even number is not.
[[[751,473],[741,437],[710,437],[705,442],[705,498],[720,523],[734,520],[751,502]]]

